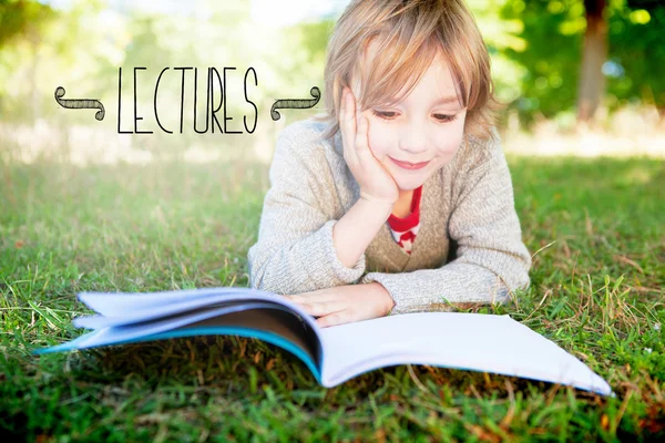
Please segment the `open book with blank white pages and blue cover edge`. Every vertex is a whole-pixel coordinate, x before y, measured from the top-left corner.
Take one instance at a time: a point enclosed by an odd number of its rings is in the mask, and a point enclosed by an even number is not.
[[[605,380],[510,316],[417,312],[320,328],[282,296],[228,287],[152,293],[82,292],[99,312],[74,326],[93,329],[34,353],[203,334],[250,337],[298,357],[331,388],[365,372],[427,364],[514,375],[612,395]]]

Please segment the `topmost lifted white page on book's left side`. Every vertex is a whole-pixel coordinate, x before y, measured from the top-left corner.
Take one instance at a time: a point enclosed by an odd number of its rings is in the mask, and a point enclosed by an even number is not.
[[[162,292],[80,292],[78,295],[81,300],[90,309],[105,317],[126,317],[136,311],[150,311],[157,307],[174,303],[187,303],[198,299],[208,297],[235,297],[242,295],[256,295],[278,297],[275,293],[262,291],[252,288],[203,288],[191,290],[172,290]]]

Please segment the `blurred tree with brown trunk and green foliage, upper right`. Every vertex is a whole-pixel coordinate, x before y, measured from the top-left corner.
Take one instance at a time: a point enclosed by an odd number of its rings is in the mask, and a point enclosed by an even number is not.
[[[567,120],[569,125],[628,103],[653,103],[665,115],[664,0],[507,0],[500,18],[521,22],[525,43],[503,53],[515,71],[520,122]]]

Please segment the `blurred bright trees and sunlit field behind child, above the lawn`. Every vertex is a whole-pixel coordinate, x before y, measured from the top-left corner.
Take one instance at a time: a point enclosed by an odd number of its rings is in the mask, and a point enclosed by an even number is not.
[[[149,164],[254,159],[268,164],[277,134],[321,112],[284,110],[275,100],[324,92],[326,43],[348,1],[0,0],[0,140],[6,161]],[[526,155],[654,155],[665,152],[663,0],[470,0],[492,56],[507,152]],[[133,68],[140,131],[133,130]],[[193,131],[197,68],[198,127],[205,127],[207,69],[226,71],[228,131]],[[119,117],[119,68],[122,113]],[[160,130],[153,103],[160,83]],[[249,73],[245,79],[248,69]],[[246,91],[244,84],[247,83]],[[98,99],[92,110],[54,100]],[[219,91],[216,91],[218,96]],[[257,111],[250,103],[252,101]],[[218,100],[218,99],[217,99]],[[258,114],[258,115],[257,115]],[[224,114],[217,113],[224,127]],[[249,134],[243,125],[246,117]]]

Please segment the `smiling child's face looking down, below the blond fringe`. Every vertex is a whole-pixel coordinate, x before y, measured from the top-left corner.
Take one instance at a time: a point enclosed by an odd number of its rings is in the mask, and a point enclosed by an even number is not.
[[[376,55],[372,51],[376,47],[370,43],[368,58]],[[454,100],[437,103],[443,97]],[[369,120],[369,146],[375,157],[392,175],[400,192],[409,192],[452,159],[462,142],[467,110],[458,103],[452,74],[438,56],[401,103],[374,106],[362,114]],[[393,159],[429,163],[409,169]]]

